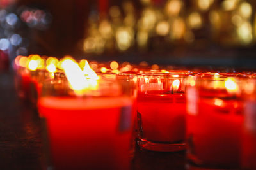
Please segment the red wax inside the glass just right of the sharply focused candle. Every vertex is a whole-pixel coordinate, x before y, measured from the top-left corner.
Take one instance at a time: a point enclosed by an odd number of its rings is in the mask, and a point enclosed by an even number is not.
[[[198,110],[186,117],[188,157],[209,167],[238,167],[243,106],[236,97],[217,94],[200,94]]]

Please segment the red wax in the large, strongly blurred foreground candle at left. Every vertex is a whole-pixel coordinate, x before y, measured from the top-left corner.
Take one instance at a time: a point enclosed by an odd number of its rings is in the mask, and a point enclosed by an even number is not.
[[[129,169],[132,99],[42,97],[56,169]]]

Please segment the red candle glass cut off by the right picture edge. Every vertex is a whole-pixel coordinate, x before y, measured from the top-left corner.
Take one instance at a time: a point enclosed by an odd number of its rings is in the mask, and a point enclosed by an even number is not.
[[[244,85],[244,126],[241,153],[243,169],[256,169],[256,79],[247,79]]]

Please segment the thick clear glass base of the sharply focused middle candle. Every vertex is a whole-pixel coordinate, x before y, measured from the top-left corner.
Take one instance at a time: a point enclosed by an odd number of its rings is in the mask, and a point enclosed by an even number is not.
[[[152,141],[147,141],[145,139],[138,138],[137,140],[140,148],[145,150],[152,150],[158,152],[176,152],[186,150],[186,144],[184,142],[180,143],[154,143]]]

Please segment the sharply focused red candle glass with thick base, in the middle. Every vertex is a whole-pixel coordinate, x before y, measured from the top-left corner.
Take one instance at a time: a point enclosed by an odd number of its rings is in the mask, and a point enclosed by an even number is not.
[[[147,150],[184,150],[187,74],[138,74],[138,145]]]

